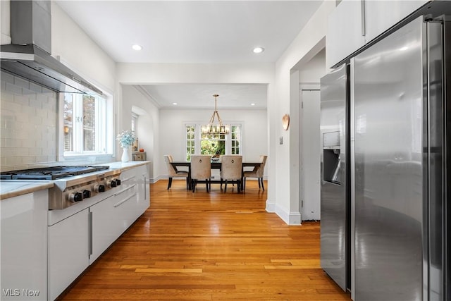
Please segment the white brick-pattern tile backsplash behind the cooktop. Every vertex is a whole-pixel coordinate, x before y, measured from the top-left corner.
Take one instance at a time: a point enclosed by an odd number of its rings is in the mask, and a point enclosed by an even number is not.
[[[56,162],[58,94],[9,73],[0,80],[1,171]]]

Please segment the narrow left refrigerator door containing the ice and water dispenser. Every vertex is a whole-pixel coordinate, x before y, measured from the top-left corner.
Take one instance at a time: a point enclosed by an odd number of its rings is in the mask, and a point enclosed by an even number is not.
[[[321,78],[321,266],[340,288],[350,286],[350,102],[347,73]]]

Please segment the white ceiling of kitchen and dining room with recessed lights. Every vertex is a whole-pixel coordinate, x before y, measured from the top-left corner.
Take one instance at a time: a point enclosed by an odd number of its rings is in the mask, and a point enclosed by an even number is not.
[[[116,62],[268,63],[319,8],[316,1],[70,1],[57,0]],[[132,50],[140,44],[141,51]],[[254,47],[264,47],[254,54]],[[142,85],[161,108],[266,107],[261,85]],[[264,95],[262,95],[262,93]],[[175,100],[176,99],[176,100]]]

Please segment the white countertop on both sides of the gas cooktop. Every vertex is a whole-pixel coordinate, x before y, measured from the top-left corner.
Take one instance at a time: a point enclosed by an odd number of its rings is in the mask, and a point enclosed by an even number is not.
[[[149,163],[150,161],[118,161],[99,165],[108,165],[110,166],[110,169],[121,169],[122,171],[125,171]],[[52,187],[54,187],[54,183],[51,180],[0,180],[0,200],[18,197],[19,195],[25,195],[27,193]]]

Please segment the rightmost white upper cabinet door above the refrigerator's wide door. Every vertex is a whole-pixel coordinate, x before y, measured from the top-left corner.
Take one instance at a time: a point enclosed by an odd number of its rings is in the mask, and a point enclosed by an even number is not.
[[[381,35],[390,27],[426,4],[426,0],[414,1],[365,1],[365,41]]]

